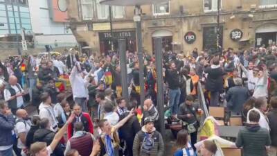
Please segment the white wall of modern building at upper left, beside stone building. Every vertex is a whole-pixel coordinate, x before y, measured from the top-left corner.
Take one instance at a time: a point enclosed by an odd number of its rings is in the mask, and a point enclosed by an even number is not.
[[[33,33],[43,34],[35,37],[35,45],[55,44],[58,46],[75,45],[77,41],[72,35],[71,30],[67,30],[69,24],[54,22],[49,17],[47,0],[28,0],[30,9],[30,19],[32,22]]]

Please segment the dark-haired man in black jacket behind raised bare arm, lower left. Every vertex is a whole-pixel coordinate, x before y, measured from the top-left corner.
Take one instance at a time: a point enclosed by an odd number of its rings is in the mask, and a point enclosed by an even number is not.
[[[34,142],[36,141],[46,142],[47,146],[49,146],[55,137],[55,132],[50,130],[49,120],[46,118],[43,118],[40,121],[39,125],[40,125],[40,128],[37,131],[35,131],[35,134],[34,134]],[[53,151],[53,155],[55,156],[64,155],[64,152],[60,143]]]

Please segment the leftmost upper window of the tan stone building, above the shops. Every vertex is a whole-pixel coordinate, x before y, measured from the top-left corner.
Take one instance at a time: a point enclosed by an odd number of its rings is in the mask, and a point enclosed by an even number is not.
[[[82,20],[93,19],[93,0],[80,0]]]

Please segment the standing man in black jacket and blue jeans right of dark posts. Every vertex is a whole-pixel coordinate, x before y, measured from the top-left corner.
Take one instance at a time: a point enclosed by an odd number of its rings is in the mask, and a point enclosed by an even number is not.
[[[170,69],[166,70],[166,81],[168,82],[170,110],[172,116],[177,118],[178,105],[180,100],[180,83],[179,73],[176,68],[175,62],[170,62]]]

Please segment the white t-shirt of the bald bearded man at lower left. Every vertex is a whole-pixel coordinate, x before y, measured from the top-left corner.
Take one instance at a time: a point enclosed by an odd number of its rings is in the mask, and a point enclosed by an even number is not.
[[[18,119],[17,119],[18,120]],[[22,119],[21,119],[22,120]],[[26,124],[24,124],[24,122]],[[17,139],[17,148],[21,148],[21,149],[24,149],[26,148],[26,145],[24,145],[21,141],[21,139],[19,138],[19,134],[21,132],[25,132],[26,136],[30,130],[30,121],[19,121],[17,122],[17,124],[15,125],[15,134],[17,135],[18,139]]]

